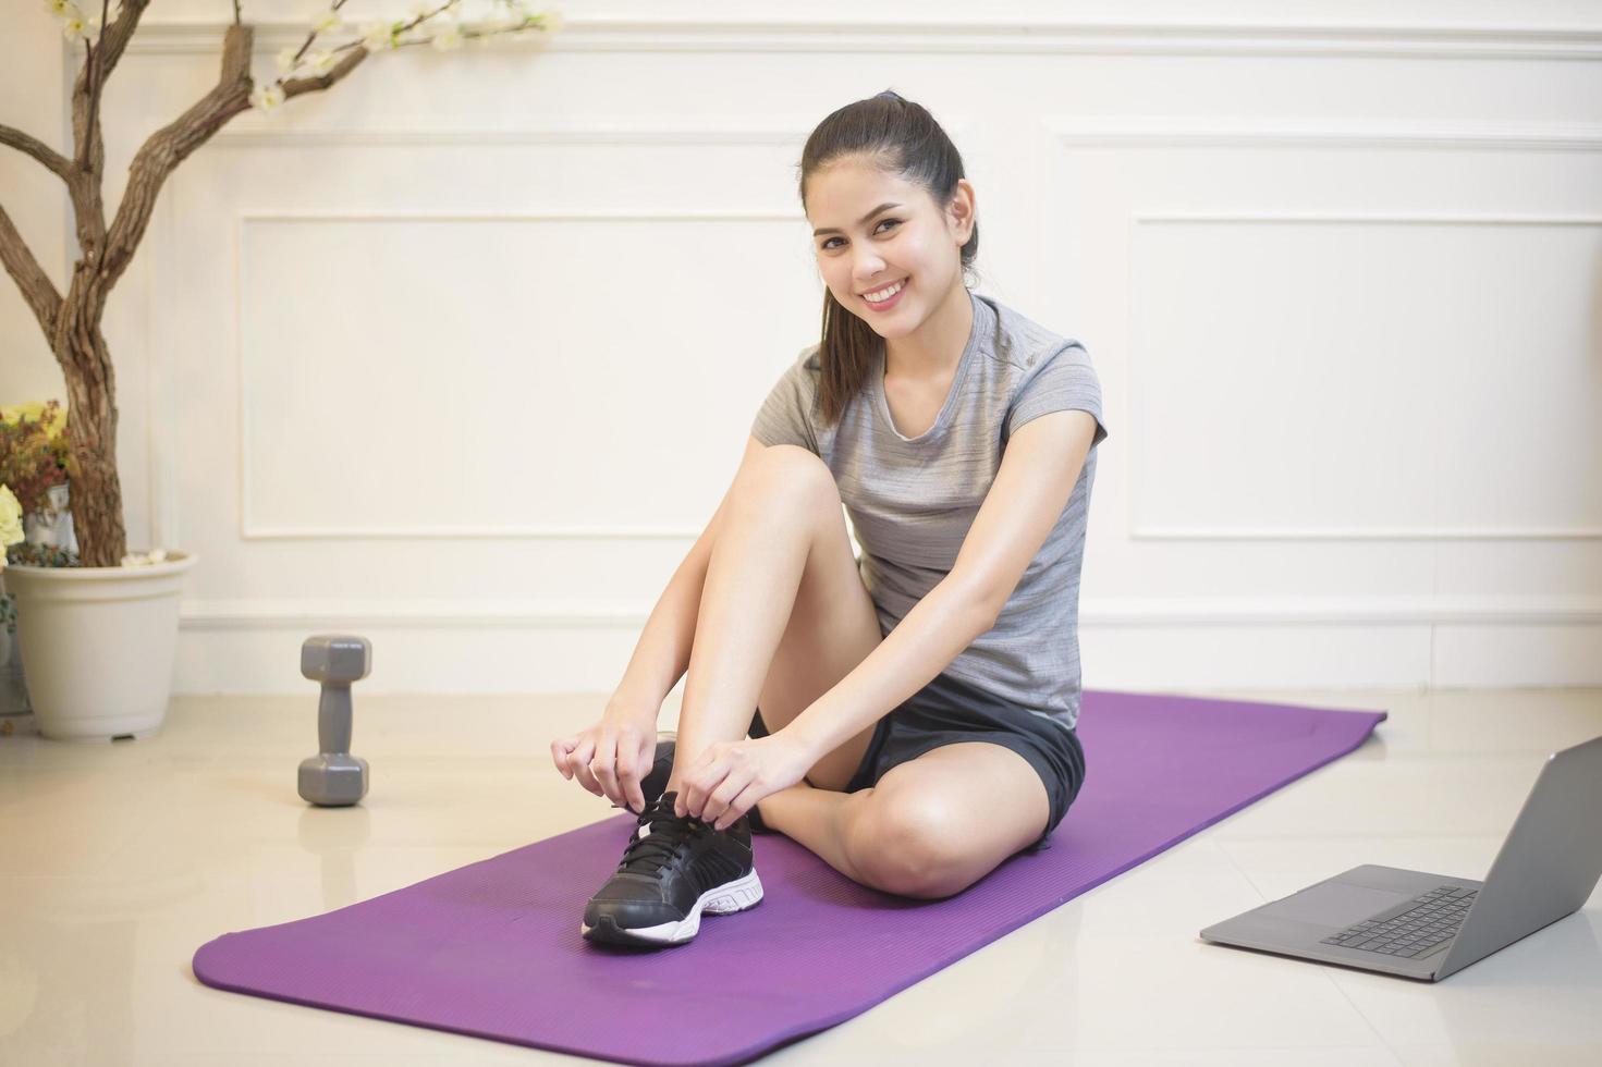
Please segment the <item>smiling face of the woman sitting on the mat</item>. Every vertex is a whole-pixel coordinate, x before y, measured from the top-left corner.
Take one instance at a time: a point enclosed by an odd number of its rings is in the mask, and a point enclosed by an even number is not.
[[[961,285],[961,248],[972,234],[968,179],[942,210],[923,186],[847,157],[807,179],[806,216],[823,284],[879,336],[913,333]]]

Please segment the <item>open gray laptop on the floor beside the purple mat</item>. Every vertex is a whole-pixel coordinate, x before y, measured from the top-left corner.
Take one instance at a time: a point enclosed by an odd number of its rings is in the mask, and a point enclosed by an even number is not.
[[[1602,876],[1602,737],[1554,751],[1483,881],[1365,864],[1202,931],[1439,982],[1580,910]]]

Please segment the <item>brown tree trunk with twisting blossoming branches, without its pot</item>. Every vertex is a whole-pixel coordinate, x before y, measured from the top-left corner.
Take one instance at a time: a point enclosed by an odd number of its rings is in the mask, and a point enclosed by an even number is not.
[[[344,2],[333,0],[328,14],[293,53],[290,67],[300,64],[319,32],[336,26],[335,14]],[[151,0],[120,0],[117,18],[107,26],[111,0],[101,0],[103,29],[95,42],[83,32],[87,26],[95,24],[95,19],[85,19],[66,0],[54,5],[58,14],[66,19],[69,37],[82,34],[85,40],[83,67],[72,88],[70,159],[21,130],[0,125],[0,144],[37,159],[66,183],[72,202],[80,256],[72,268],[64,296],[56,292],[3,207],[0,207],[0,263],[22,292],[22,300],[38,320],[66,380],[72,524],[80,559],[87,567],[114,567],[127,554],[122,484],[117,477],[115,372],[111,349],[101,335],[101,319],[112,287],[128,269],[149,227],[157,195],[168,175],[234,115],[252,107],[268,111],[290,98],[327,90],[349,77],[367,59],[368,51],[431,42],[444,50],[457,46],[465,38],[519,34],[529,29],[545,35],[561,24],[561,16],[556,13],[525,11],[524,0],[495,0],[508,11],[485,22],[487,29],[460,30],[450,22],[437,37],[400,40],[404,34],[460,3],[460,0],[441,0],[439,6],[410,21],[373,22],[365,30],[364,40],[348,42],[332,53],[319,51],[314,56],[319,67],[316,74],[279,79],[271,87],[256,88],[250,75],[255,29],[242,21],[239,0],[234,0],[234,22],[223,34],[223,59],[216,85],[139,146],[128,165],[128,184],[122,203],[117,205],[117,213],[107,227],[103,202],[106,147],[101,138],[99,103],[106,82],[149,3]],[[436,22],[429,29],[437,26]],[[335,61],[341,51],[346,54]]]

